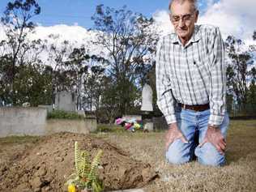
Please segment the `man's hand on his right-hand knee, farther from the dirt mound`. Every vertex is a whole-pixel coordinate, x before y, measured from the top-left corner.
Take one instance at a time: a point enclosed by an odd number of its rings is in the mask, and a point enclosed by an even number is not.
[[[203,143],[200,143],[198,147],[202,147],[203,144],[207,142],[213,144],[213,146],[220,152],[220,154],[224,155],[226,142],[223,135],[220,132],[219,127],[209,125],[207,129],[207,134],[203,139]]]

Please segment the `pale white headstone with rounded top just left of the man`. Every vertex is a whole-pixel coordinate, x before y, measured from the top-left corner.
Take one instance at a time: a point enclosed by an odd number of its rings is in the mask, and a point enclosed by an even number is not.
[[[151,87],[146,83],[143,86],[143,96],[142,96],[142,111],[153,111],[153,92]]]

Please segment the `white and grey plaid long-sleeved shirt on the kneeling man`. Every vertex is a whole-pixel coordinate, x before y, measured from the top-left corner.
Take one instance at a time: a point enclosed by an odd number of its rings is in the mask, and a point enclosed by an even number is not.
[[[156,52],[157,105],[168,124],[177,122],[175,104],[210,103],[209,124],[224,119],[226,66],[219,28],[195,25],[185,46],[175,33],[160,39]]]

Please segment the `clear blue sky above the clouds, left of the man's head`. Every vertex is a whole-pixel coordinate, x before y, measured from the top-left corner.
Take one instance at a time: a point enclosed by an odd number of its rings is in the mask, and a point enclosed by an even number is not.
[[[0,1],[1,13],[5,10],[7,0]],[[92,15],[96,6],[105,6],[116,9],[126,5],[132,11],[142,13],[151,17],[157,10],[164,10],[168,7],[168,0],[37,0],[41,6],[41,14],[34,19],[44,26],[51,26],[60,23],[72,25],[78,24],[83,28],[92,28]]]

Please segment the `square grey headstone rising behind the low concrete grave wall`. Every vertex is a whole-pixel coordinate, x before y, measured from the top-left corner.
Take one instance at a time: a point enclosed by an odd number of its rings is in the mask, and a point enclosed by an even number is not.
[[[55,96],[55,109],[75,112],[75,94],[58,92]]]

